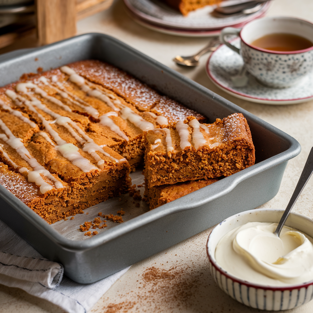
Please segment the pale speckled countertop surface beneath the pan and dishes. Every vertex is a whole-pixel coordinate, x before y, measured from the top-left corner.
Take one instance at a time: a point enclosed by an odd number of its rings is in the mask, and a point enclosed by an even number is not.
[[[284,15],[313,22],[312,0],[274,0],[268,16]],[[121,0],[102,13],[81,20],[78,33],[110,34],[159,62],[175,69],[222,95],[245,110],[285,131],[302,146],[299,156],[290,160],[278,194],[263,208],[285,208],[313,146],[313,101],[297,105],[261,105],[234,98],[208,79],[201,59],[196,69],[177,67],[172,58],[189,55],[202,48],[207,38],[184,38],[156,33],[133,22]],[[313,179],[293,209],[313,218]],[[209,273],[205,244],[211,229],[193,236],[159,254],[134,264],[98,301],[90,312],[260,312],[239,304],[220,290]],[[28,295],[23,290],[0,285],[0,313],[63,313],[59,307]],[[285,312],[313,312],[313,302]]]

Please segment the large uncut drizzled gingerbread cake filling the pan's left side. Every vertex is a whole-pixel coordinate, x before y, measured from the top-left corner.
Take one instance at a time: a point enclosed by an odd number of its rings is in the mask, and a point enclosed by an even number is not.
[[[0,88],[0,183],[54,223],[128,192],[144,133],[189,116],[206,120],[100,61],[24,74]]]

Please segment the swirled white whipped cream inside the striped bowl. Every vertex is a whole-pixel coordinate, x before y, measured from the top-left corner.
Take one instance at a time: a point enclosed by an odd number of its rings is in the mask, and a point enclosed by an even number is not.
[[[234,228],[218,242],[217,263],[228,273],[251,283],[271,286],[313,280],[313,239],[277,223],[251,222]]]

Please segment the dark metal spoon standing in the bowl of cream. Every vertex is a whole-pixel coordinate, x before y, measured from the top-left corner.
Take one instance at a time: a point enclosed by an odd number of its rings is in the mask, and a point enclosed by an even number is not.
[[[313,147],[311,148],[309,156],[305,162],[305,166],[303,168],[303,171],[301,173],[301,176],[299,178],[297,186],[295,187],[295,191],[292,194],[291,199],[287,205],[287,208],[285,209],[285,212],[284,212],[283,216],[281,217],[281,219],[278,223],[278,226],[274,232],[276,236],[279,237],[280,231],[283,228],[291,209],[295,205],[295,202],[298,200],[300,193],[302,192],[304,186],[306,185],[306,183],[310,179],[312,172],[313,172]]]

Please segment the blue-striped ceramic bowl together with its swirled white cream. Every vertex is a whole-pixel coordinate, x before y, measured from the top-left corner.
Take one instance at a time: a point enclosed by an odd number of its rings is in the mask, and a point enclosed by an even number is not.
[[[211,273],[239,302],[286,310],[313,297],[313,221],[290,213],[278,238],[283,210],[256,209],[231,216],[209,236]]]

